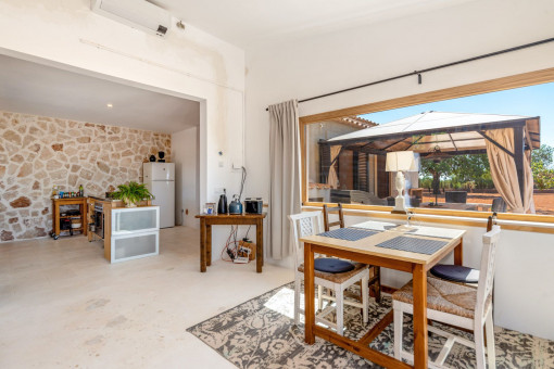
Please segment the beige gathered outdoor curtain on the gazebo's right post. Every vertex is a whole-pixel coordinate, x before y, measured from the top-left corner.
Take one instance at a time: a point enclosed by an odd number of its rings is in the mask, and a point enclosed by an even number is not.
[[[514,129],[493,129],[487,131],[486,135],[504,147],[507,151],[514,152]],[[496,191],[499,191],[500,195],[506,202],[508,211],[513,213],[534,213],[530,151],[527,151],[524,155],[525,188],[524,201],[521,202],[514,157],[489,140],[484,140],[484,142],[487,144],[487,155],[489,156],[492,181],[494,182]]]

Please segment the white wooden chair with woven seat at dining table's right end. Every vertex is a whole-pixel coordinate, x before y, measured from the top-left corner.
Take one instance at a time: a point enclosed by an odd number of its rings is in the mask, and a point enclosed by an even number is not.
[[[461,327],[474,332],[475,342],[428,326],[430,332],[446,338],[446,343],[436,361],[429,360],[429,368],[443,368],[444,360],[455,342],[476,349],[477,368],[484,369],[484,334],[487,332],[487,356],[489,368],[495,368],[494,326],[492,323],[492,285],[494,279],[494,256],[500,237],[500,226],[482,237],[481,273],[477,289],[444,281],[427,279],[427,318],[446,325]],[[403,314],[413,314],[413,285],[410,281],[392,294],[394,309],[394,357],[413,362],[414,356],[402,351]]]

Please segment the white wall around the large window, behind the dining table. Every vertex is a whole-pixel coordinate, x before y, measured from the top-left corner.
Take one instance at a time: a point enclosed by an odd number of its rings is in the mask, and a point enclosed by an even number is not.
[[[265,107],[552,37],[554,2],[482,0],[247,51],[247,193],[269,193]],[[301,116],[554,67],[554,43],[300,104]],[[270,206],[270,204],[269,204]],[[349,220],[351,221],[351,220]],[[474,231],[468,240],[478,236]],[[471,241],[473,242],[473,241]],[[466,249],[475,265],[476,245]],[[554,237],[505,232],[499,255],[496,323],[554,339]],[[549,247],[550,245],[550,247]],[[476,250],[473,250],[476,249]],[[270,260],[290,265],[290,260]],[[399,284],[387,273],[385,283]],[[536,293],[533,290],[540,292]],[[531,292],[532,291],[532,292]],[[549,323],[549,325],[546,325]],[[550,327],[549,327],[550,326]]]

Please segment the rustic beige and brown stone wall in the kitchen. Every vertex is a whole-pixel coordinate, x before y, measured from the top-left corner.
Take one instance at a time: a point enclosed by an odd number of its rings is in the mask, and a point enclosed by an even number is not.
[[[171,135],[0,111],[0,242],[50,233],[53,186],[103,195],[159,151]]]

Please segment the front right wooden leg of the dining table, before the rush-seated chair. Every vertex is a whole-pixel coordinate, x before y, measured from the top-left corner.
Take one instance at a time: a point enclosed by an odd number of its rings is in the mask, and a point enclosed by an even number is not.
[[[416,265],[414,275],[414,368],[427,368],[427,273]]]

